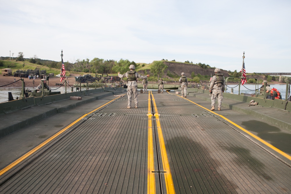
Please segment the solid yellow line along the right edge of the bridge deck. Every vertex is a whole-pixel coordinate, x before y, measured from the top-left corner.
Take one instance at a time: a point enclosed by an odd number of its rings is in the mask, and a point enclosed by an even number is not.
[[[179,96],[179,95],[177,95],[177,96]],[[179,97],[180,97],[180,96],[179,96]],[[181,97],[181,98],[182,98],[182,97]],[[184,98],[184,99],[186,99],[186,98]],[[188,100],[188,99],[186,99],[186,100]],[[188,101],[192,102],[191,100],[188,100]],[[192,102],[192,103],[193,103],[193,104],[196,104],[195,102]],[[197,106],[200,106],[199,104],[196,104],[196,105],[197,105]],[[207,109],[207,108],[205,108],[205,107],[203,107],[203,106],[200,106],[200,107],[201,107],[201,108],[204,108],[204,109],[207,110],[207,111],[210,111],[209,109]],[[225,118],[225,117],[222,116],[222,115],[219,115],[219,114],[217,114],[217,113],[215,113],[215,112],[213,112],[213,111],[210,111],[210,112],[212,112],[212,113],[215,114],[215,115],[220,116],[220,117],[223,118],[224,120],[226,120],[226,121],[228,121],[229,123],[233,124],[235,127],[237,127],[237,128],[239,128],[240,130],[246,132],[247,134],[249,134],[250,136],[252,136],[252,137],[255,138],[256,140],[260,141],[261,143],[267,145],[269,148],[271,148],[271,149],[273,149],[274,151],[278,152],[278,153],[281,154],[282,156],[285,156],[287,159],[291,160],[291,156],[289,156],[289,155],[286,154],[285,152],[281,151],[280,149],[274,147],[273,145],[269,144],[269,143],[266,142],[265,140],[259,138],[259,137],[256,136],[255,134],[252,134],[252,133],[249,132],[248,130],[242,128],[242,127],[239,126],[238,124],[232,122],[231,120],[229,120],[228,118]]]

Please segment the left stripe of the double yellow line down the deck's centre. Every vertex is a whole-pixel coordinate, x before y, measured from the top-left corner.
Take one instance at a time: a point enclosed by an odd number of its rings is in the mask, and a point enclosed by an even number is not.
[[[148,193],[156,193],[154,144],[152,138],[152,113],[150,91],[148,92]]]

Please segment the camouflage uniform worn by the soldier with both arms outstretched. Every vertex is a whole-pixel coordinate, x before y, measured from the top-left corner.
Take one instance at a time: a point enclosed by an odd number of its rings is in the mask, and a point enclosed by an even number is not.
[[[130,66],[129,66],[130,67]],[[125,74],[119,74],[118,73],[118,77],[123,78],[123,77],[127,77],[128,78],[128,74],[129,73],[133,73],[135,72],[135,78],[140,78],[140,79],[147,79],[148,76],[146,75],[140,75],[138,74],[136,71],[128,71]],[[128,103],[127,103],[127,108],[131,108],[131,101],[132,101],[132,95],[134,96],[134,104],[135,104],[135,108],[138,107],[139,105],[139,101],[137,100],[137,83],[136,80],[134,81],[127,81],[127,97],[128,97]]]

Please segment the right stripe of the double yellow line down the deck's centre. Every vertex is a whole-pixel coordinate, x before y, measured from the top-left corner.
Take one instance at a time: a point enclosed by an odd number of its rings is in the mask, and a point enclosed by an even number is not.
[[[152,95],[152,101],[153,101],[154,108],[155,108],[155,117],[156,117],[156,121],[157,121],[157,130],[158,130],[158,135],[159,135],[163,169],[165,171],[164,175],[165,175],[167,193],[175,193],[173,178],[172,178],[172,174],[171,174],[171,170],[170,170],[170,165],[169,165],[168,156],[167,156],[167,152],[166,152],[165,141],[164,141],[164,137],[163,137],[161,123],[159,120],[159,113],[157,110],[157,105],[156,105],[156,102],[154,99],[154,95]]]

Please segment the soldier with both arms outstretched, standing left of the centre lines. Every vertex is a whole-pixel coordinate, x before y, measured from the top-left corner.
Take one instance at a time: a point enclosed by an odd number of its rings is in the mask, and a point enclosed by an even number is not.
[[[140,79],[147,79],[150,75],[140,75],[136,71],[134,71],[135,67],[134,65],[129,65],[130,71],[126,72],[125,74],[120,74],[118,72],[118,77],[123,78],[127,77],[127,97],[128,97],[128,103],[127,108],[131,108],[131,101],[132,101],[132,95],[134,96],[134,104],[135,108],[138,108],[139,101],[137,100],[137,78]]]

